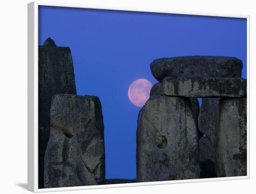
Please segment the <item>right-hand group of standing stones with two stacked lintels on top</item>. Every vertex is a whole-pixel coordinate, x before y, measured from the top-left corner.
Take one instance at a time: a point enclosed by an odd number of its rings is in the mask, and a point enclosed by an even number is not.
[[[159,83],[138,117],[137,180],[246,175],[242,61],[188,56],[154,60],[150,68]]]

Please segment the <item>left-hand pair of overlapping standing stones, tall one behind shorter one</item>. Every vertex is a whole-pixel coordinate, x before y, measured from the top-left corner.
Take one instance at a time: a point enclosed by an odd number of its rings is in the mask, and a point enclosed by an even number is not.
[[[78,96],[69,47],[39,46],[39,188],[105,181],[101,102]]]

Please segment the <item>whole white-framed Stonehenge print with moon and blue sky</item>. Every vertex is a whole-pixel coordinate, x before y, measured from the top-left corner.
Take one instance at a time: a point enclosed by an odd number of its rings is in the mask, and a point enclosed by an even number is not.
[[[247,78],[247,15],[28,4],[28,189],[248,179]]]

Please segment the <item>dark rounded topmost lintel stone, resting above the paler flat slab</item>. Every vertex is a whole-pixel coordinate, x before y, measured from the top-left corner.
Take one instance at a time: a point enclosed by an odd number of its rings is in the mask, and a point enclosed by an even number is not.
[[[184,56],[161,58],[150,64],[151,73],[156,80],[163,78],[210,76],[210,77],[241,77],[242,60],[235,57],[219,56]]]

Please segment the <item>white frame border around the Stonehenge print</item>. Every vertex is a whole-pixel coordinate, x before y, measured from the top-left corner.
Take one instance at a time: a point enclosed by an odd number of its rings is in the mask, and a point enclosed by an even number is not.
[[[222,177],[209,179],[192,179],[192,180],[178,180],[178,181],[155,181],[155,182],[141,182],[141,183],[125,183],[112,185],[94,185],[81,187],[58,187],[58,188],[38,188],[38,7],[39,6],[55,6],[55,7],[76,7],[76,8],[91,8],[91,9],[107,9],[120,11],[137,11],[137,12],[152,12],[152,13],[173,13],[186,15],[202,15],[202,16],[216,16],[216,17],[232,17],[247,19],[247,176],[236,177]],[[225,181],[225,180],[241,180],[250,178],[250,33],[249,33],[249,15],[234,15],[222,13],[202,13],[202,12],[184,12],[165,9],[144,9],[138,7],[105,7],[92,5],[78,5],[72,3],[54,3],[54,2],[40,2],[34,1],[27,5],[27,187],[29,191],[34,193],[51,192],[51,191],[70,191],[83,189],[97,189],[97,188],[113,188],[113,187],[133,187],[133,186],[147,186],[147,185],[164,185],[175,183],[189,183],[189,182],[206,182],[206,181]]]

